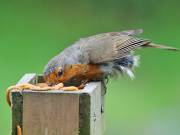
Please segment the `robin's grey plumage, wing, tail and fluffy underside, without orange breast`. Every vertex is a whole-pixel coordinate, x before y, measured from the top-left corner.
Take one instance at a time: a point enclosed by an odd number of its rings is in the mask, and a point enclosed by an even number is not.
[[[104,77],[125,72],[133,78],[132,69],[137,66],[139,57],[134,56],[132,52],[137,48],[154,47],[177,50],[156,45],[148,39],[135,37],[140,33],[142,33],[141,29],[102,33],[82,38],[51,59],[45,67],[44,75],[50,75],[58,67],[61,67],[63,72],[64,68],[69,65],[96,64],[100,66]]]

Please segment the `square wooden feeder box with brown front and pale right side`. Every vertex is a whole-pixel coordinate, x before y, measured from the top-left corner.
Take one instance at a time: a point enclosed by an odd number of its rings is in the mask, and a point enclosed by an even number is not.
[[[42,82],[26,74],[19,83]],[[81,91],[12,92],[12,135],[20,125],[23,135],[103,135],[104,96],[100,82]]]

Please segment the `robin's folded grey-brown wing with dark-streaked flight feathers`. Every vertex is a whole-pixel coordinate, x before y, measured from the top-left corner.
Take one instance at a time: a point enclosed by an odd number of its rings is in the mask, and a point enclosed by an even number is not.
[[[98,34],[77,42],[81,45],[83,55],[91,63],[113,61],[129,55],[137,47],[150,43],[149,40],[133,37],[142,30],[110,32]]]

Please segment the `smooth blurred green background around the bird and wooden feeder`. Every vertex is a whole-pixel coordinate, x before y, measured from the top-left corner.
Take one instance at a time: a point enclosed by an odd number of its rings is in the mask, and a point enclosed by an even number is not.
[[[25,73],[42,73],[80,37],[143,28],[142,37],[180,48],[178,0],[1,0],[0,135],[10,135],[5,90]],[[106,135],[180,134],[180,53],[138,50],[136,79],[111,80]]]

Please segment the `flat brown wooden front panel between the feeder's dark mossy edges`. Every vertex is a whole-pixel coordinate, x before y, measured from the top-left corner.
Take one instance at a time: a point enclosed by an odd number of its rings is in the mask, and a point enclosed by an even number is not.
[[[23,93],[23,135],[78,135],[79,95]]]

